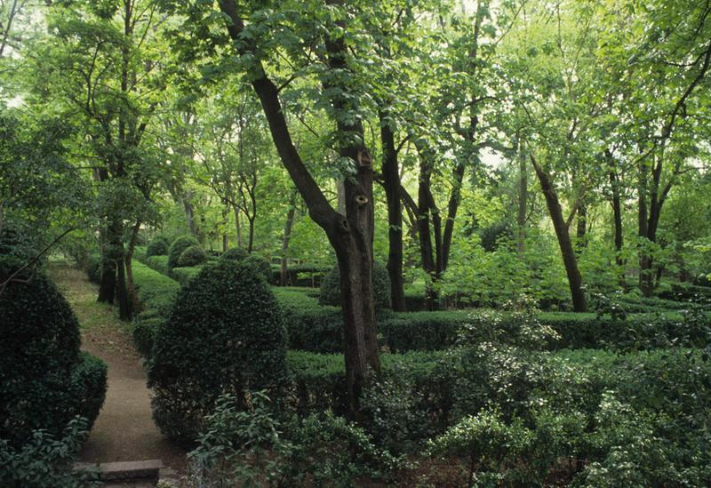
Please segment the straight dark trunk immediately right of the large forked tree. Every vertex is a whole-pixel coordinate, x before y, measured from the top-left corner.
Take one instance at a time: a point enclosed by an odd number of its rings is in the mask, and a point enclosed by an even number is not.
[[[390,299],[393,310],[405,311],[403,284],[403,207],[400,203],[400,173],[395,149],[395,134],[385,116],[380,117],[380,142],[383,148],[383,188],[387,199],[387,274],[390,276]]]

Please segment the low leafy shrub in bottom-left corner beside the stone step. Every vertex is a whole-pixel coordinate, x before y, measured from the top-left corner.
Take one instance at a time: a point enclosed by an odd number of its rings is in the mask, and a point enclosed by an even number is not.
[[[89,427],[86,419],[75,417],[59,435],[33,430],[19,448],[0,439],[0,484],[5,488],[98,486],[96,473],[74,469]]]

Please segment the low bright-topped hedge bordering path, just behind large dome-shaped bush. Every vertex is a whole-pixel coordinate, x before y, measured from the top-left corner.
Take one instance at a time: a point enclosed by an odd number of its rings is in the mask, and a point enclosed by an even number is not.
[[[148,261],[165,256],[153,256]],[[141,355],[150,357],[158,325],[170,314],[180,284],[141,262],[133,262],[133,282],[140,300],[140,313],[133,318],[133,343]]]

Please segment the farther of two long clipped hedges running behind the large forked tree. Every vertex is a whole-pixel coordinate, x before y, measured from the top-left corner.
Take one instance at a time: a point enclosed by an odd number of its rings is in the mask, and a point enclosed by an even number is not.
[[[342,350],[340,308],[321,307],[307,294],[285,288],[275,289],[284,309],[291,349],[320,353]],[[539,323],[560,336],[550,348],[660,348],[670,344],[704,347],[711,337],[707,314],[634,314],[612,319],[595,314],[547,312],[536,316]],[[378,316],[379,338],[392,352],[450,348],[459,330],[473,324],[469,333],[479,340],[515,343],[520,317],[493,312],[384,312]]]

